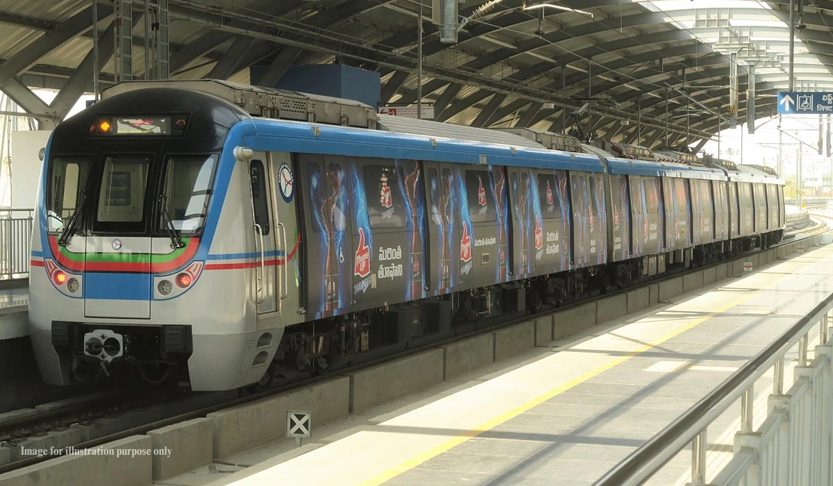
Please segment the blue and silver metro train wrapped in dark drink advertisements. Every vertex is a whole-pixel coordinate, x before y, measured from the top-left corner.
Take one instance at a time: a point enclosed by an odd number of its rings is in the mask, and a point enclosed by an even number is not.
[[[781,180],[214,80],[129,82],[43,153],[46,383],[264,385],[781,239]]]

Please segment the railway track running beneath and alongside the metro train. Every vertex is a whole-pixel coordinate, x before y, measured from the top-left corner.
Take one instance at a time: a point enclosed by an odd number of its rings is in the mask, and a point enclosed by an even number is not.
[[[809,239],[814,236],[817,236],[818,234],[831,231],[831,228],[833,228],[833,214],[814,212],[811,213],[811,215],[814,218],[816,218],[816,224],[814,226],[812,226],[811,228],[804,228],[798,230],[795,233],[786,234],[784,241],[771,248],[777,248],[781,245],[796,243],[796,241],[802,241],[804,239]],[[796,236],[800,238],[795,239]],[[766,250],[756,250],[746,253],[746,255],[751,256],[756,253],[763,253],[765,251]],[[559,306],[558,308],[544,308],[541,310],[541,312],[536,313],[534,315],[560,312],[562,310],[575,307],[577,305],[586,303],[588,301],[592,301],[597,298],[606,298],[619,293],[626,293],[633,290],[634,288],[640,288],[642,286],[652,283],[662,283],[666,279],[676,278],[681,275],[685,275],[689,272],[699,271],[704,268],[710,268],[716,266],[719,263],[720,262],[711,263],[702,267],[690,268],[686,271],[666,273],[662,275],[660,278],[647,278],[641,280],[640,283],[635,286],[619,289],[608,293],[596,293],[593,295],[586,295],[583,298],[578,298],[572,301],[571,303],[566,303],[564,305]],[[362,359],[362,363],[355,363],[356,360],[354,359],[353,363],[351,363],[350,365],[342,366],[341,368],[331,368],[330,370],[328,370],[327,373],[323,373],[319,376],[310,377],[299,375],[295,378],[287,378],[284,380],[278,380],[276,378],[275,383],[272,383],[272,388],[269,388],[261,393],[245,394],[242,391],[215,393],[185,393],[182,392],[181,389],[179,389],[179,392],[177,393],[172,389],[147,387],[144,387],[142,389],[132,389],[129,392],[127,392],[129,393],[127,396],[124,394],[125,392],[123,391],[119,393],[113,393],[112,395],[108,395],[107,398],[102,399],[101,403],[96,403],[97,400],[92,400],[91,402],[79,403],[73,405],[72,407],[52,410],[47,413],[39,413],[31,417],[19,418],[11,422],[0,423],[0,445],[2,445],[2,443],[5,442],[7,444],[11,444],[13,447],[17,447],[17,445],[19,445],[23,440],[31,438],[32,432],[36,434],[42,434],[55,430],[57,428],[66,428],[67,426],[70,426],[72,424],[88,423],[97,418],[112,418],[113,413],[123,413],[125,411],[141,413],[142,408],[147,407],[163,408],[170,411],[170,413],[167,416],[164,416],[162,418],[148,418],[147,422],[140,423],[137,425],[130,425],[125,423],[126,426],[121,430],[118,430],[117,432],[106,433],[97,438],[90,438],[81,443],[71,444],[74,448],[79,450],[82,448],[94,448],[104,443],[109,443],[122,438],[127,438],[132,435],[147,433],[151,430],[166,427],[174,423],[184,422],[192,418],[205,417],[207,413],[217,412],[219,410],[225,408],[232,408],[237,405],[252,403],[253,401],[259,400],[261,398],[267,398],[278,393],[285,393],[295,388],[310,386],[314,383],[318,383],[322,380],[333,378],[342,373],[352,373],[362,368],[367,368],[375,366],[377,364],[386,363],[387,361],[390,361],[392,359],[402,358],[413,353],[419,353],[428,348],[436,348],[437,346],[441,346],[447,343],[453,343],[462,338],[470,338],[471,336],[476,335],[478,333],[487,333],[494,331],[497,328],[511,326],[515,323],[520,323],[530,318],[530,315],[526,313],[517,314],[518,315],[511,316],[511,318],[490,318],[482,321],[481,323],[472,323],[463,325],[459,328],[454,328],[452,329],[452,332],[454,332],[455,335],[448,338],[415,338],[415,340],[411,343],[416,342],[419,344],[413,347],[409,347],[407,349],[394,349],[392,347],[380,348],[376,352],[367,353],[367,356],[364,359]],[[147,397],[147,393],[149,390],[152,390],[151,393],[153,393],[151,397]],[[234,395],[237,395],[236,398],[233,397]],[[188,403],[191,399],[194,399],[194,402],[200,402],[201,404],[189,407]],[[182,411],[183,409],[184,411]],[[0,473],[6,473],[17,468],[24,468],[32,464],[40,463],[52,457],[55,456],[32,456],[20,458],[15,461],[12,461],[11,463],[0,464]]]

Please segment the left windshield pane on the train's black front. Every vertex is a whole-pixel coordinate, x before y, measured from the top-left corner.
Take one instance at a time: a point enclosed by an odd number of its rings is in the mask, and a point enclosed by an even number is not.
[[[62,231],[69,223],[81,191],[87,186],[89,161],[81,158],[55,158],[52,160],[52,175],[49,178],[47,197],[48,231]]]

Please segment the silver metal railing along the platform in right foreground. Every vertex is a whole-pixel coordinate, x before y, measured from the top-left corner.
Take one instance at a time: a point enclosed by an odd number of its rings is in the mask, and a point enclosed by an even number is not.
[[[687,484],[830,486],[833,484],[833,294],[786,333],[738,369],[706,398],[616,464],[595,486],[625,486],[649,481],[666,463],[691,445],[691,477]],[[810,348],[818,328],[818,344]],[[816,338],[813,338],[816,341]],[[785,362],[794,347],[797,363],[791,388],[785,388]],[[813,354],[809,358],[810,353]],[[755,383],[772,372],[772,393],[766,417],[754,418]],[[768,378],[766,378],[768,379]],[[768,388],[768,387],[767,387]],[[731,458],[712,463],[707,478],[706,454],[711,424],[738,403],[740,429]],[[760,423],[755,428],[755,423]],[[678,460],[678,459],[675,459]]]

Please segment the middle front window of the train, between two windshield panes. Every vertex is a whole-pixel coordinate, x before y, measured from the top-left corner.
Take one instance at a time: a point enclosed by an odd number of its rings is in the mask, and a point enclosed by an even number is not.
[[[112,155],[104,159],[98,193],[98,223],[139,223],[144,218],[149,155]],[[98,229],[102,229],[99,225]]]

